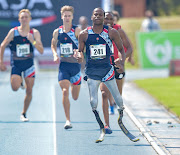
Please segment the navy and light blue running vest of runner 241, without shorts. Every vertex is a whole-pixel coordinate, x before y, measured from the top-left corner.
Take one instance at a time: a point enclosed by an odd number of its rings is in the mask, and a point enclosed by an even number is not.
[[[86,41],[86,67],[106,68],[110,67],[110,55],[112,53],[112,41],[108,35],[108,26],[103,27],[100,34],[93,32],[88,27],[88,38]]]

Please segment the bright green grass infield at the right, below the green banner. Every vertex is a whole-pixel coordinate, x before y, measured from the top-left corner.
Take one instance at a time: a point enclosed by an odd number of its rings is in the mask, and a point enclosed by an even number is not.
[[[134,82],[180,117],[180,77],[135,80]]]

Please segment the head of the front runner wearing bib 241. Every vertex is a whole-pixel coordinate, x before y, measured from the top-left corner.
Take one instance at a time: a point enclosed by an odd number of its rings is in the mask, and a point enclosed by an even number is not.
[[[95,25],[101,25],[104,23],[104,11],[102,9],[95,9],[93,11],[91,20]]]

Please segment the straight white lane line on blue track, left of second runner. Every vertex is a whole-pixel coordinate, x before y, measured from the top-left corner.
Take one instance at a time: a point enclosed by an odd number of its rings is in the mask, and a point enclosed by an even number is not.
[[[53,112],[53,135],[54,135],[54,155],[57,155],[57,135],[56,135],[56,95],[55,86],[51,87],[52,112]]]

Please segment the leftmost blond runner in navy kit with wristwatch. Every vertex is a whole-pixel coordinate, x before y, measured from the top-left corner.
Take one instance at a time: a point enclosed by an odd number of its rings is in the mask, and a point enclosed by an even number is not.
[[[24,73],[26,96],[24,99],[24,107],[20,116],[21,121],[28,121],[26,117],[27,109],[32,100],[32,88],[35,78],[34,67],[34,47],[43,54],[43,45],[41,35],[38,30],[30,29],[31,13],[28,9],[19,12],[20,26],[12,28],[7,34],[0,47],[0,69],[6,70],[3,63],[3,55],[5,48],[10,44],[11,49],[11,87],[13,91],[17,91],[22,83],[21,74]]]

